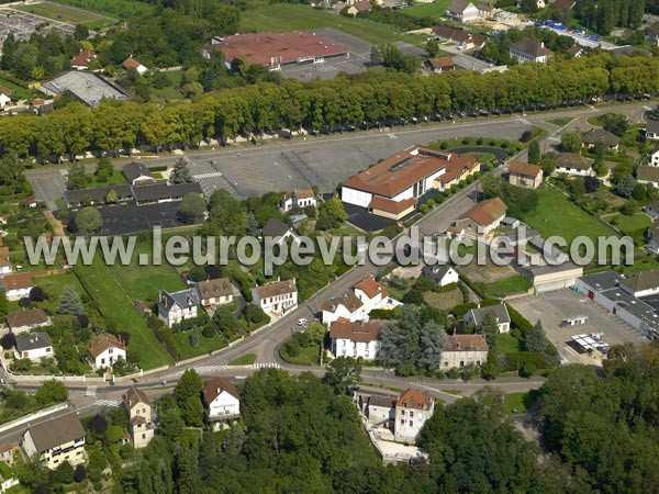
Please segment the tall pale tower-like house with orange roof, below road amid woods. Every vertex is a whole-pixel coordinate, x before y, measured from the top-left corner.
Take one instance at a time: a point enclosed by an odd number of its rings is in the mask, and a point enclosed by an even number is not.
[[[393,435],[399,442],[416,442],[416,437],[435,412],[435,400],[426,391],[405,390],[395,402]]]

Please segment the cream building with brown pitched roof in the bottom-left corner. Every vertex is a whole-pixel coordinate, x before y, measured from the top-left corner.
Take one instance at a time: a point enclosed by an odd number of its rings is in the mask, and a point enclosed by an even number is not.
[[[64,461],[75,465],[86,459],[85,429],[76,413],[29,425],[21,436],[21,446],[27,458],[38,454],[51,470]]]

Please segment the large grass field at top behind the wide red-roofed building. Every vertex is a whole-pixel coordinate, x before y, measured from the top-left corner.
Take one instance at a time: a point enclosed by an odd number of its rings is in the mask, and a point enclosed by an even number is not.
[[[241,18],[241,31],[243,32],[287,32],[321,27],[333,27],[377,45],[396,41],[417,42],[412,36],[404,36],[400,30],[393,26],[378,24],[366,19],[344,18],[308,5],[292,3],[264,3],[247,10]]]

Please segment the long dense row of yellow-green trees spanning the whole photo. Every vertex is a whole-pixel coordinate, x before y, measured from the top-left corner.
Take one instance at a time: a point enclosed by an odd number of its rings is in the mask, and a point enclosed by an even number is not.
[[[90,150],[118,155],[135,146],[185,148],[283,127],[332,132],[338,125],[393,124],[469,109],[505,112],[611,92],[654,93],[658,83],[659,60],[608,53],[541,67],[522,65],[503,74],[458,70],[423,77],[380,67],[333,80],[220,90],[165,106],[114,100],[93,109],[69,103],[44,116],[2,119],[0,149],[45,160],[74,159]]]

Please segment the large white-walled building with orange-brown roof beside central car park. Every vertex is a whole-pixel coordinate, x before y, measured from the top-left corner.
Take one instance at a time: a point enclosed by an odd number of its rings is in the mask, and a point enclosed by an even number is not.
[[[350,177],[340,189],[342,201],[372,214],[401,220],[432,189],[444,190],[440,177],[453,169],[472,169],[472,156],[411,146]]]

